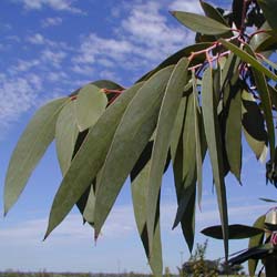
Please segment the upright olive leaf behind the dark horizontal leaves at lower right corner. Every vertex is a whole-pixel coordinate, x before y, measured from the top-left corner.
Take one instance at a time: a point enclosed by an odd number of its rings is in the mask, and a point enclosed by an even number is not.
[[[265,224],[265,219],[266,219],[266,216],[265,215],[261,215],[260,217],[258,217],[256,219],[256,222],[254,223],[254,227],[256,228],[260,228],[263,229],[264,228],[264,224]],[[265,234],[261,233],[261,234],[258,234],[254,237],[252,237],[249,239],[249,244],[248,244],[248,247],[252,248],[252,247],[255,247],[255,246],[259,246],[263,244],[263,240],[264,240],[264,237],[265,237]],[[248,270],[249,270],[249,275],[250,276],[254,276],[255,275],[255,271],[256,271],[256,268],[257,268],[257,264],[258,264],[258,260],[257,259],[249,259],[248,260]]]

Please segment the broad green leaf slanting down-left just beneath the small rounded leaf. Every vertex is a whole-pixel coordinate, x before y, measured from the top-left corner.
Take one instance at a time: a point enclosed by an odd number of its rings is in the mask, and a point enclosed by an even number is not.
[[[89,131],[54,197],[45,237],[64,219],[96,177],[105,161],[122,114],[141,86],[142,83],[137,83],[124,91]]]

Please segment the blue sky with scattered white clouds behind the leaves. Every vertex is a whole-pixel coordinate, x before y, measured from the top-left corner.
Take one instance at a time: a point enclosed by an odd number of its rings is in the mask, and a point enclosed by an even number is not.
[[[223,1],[222,1],[223,2]],[[225,1],[228,4],[228,1]],[[0,184],[12,148],[35,109],[98,79],[132,84],[172,52],[193,42],[168,10],[201,12],[185,0],[1,0],[0,2]],[[244,144],[243,186],[227,178],[230,223],[252,224],[276,198],[265,185],[264,165]],[[129,184],[120,195],[98,245],[74,209],[42,243],[52,198],[61,174],[51,145],[9,215],[0,218],[0,270],[150,271],[132,213]],[[2,212],[0,189],[0,213]],[[218,224],[208,164],[197,233]],[[176,211],[171,170],[162,195],[164,266],[175,271],[188,250],[179,229],[172,230]],[[196,242],[205,237],[196,236]],[[230,243],[232,252],[247,242]],[[220,242],[209,240],[208,257],[223,256]]]

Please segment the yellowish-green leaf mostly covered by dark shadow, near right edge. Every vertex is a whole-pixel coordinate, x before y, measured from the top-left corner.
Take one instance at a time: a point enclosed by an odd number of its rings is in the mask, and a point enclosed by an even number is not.
[[[267,153],[267,132],[264,117],[254,96],[243,91],[243,127],[247,143],[256,157],[264,161]]]

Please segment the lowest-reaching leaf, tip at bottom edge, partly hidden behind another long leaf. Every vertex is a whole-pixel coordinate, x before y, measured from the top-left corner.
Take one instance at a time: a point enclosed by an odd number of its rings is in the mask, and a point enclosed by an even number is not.
[[[135,170],[135,172],[131,172],[131,189],[132,189],[132,199],[133,199],[133,208],[135,215],[136,227],[140,233],[145,254],[148,258],[150,266],[155,276],[162,276],[163,273],[163,258],[162,258],[162,243],[161,243],[161,227],[160,227],[160,199],[158,205],[156,205],[156,223],[155,230],[153,236],[153,248],[152,253],[150,253],[150,242],[147,235],[146,227],[146,203],[147,203],[147,177],[150,174],[150,164],[148,161],[146,165],[140,171]],[[141,165],[136,163],[134,168],[141,168]]]

